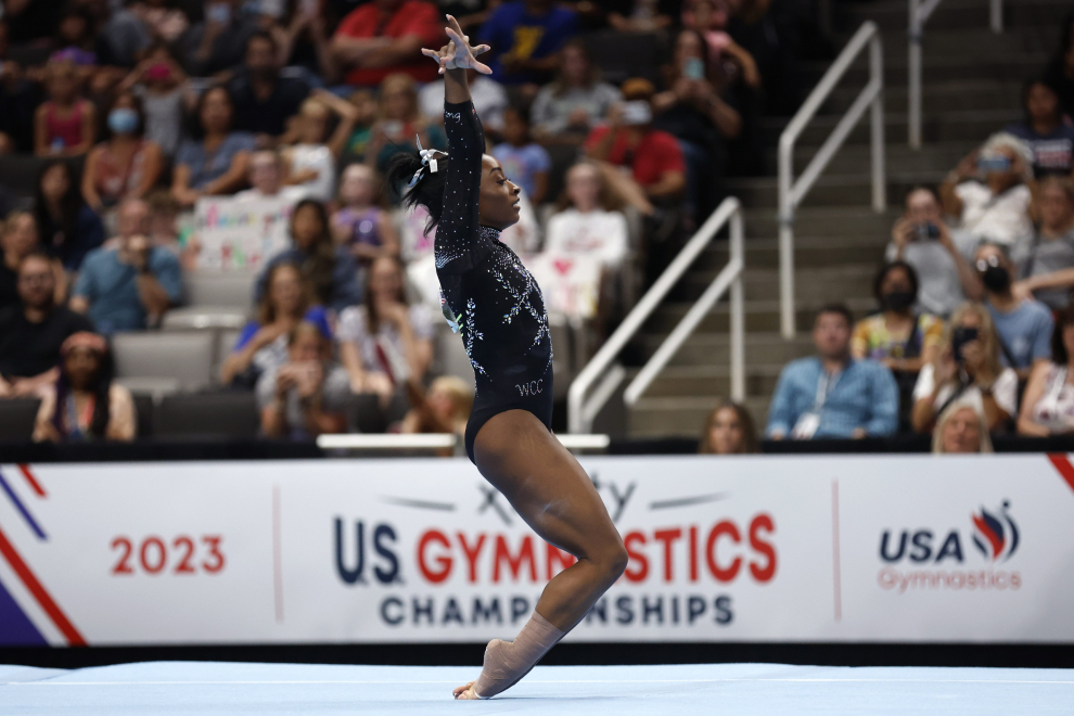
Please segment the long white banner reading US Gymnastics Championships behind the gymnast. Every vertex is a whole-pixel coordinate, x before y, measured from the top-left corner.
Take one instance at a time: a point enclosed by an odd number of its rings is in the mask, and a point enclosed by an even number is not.
[[[1074,642],[1066,456],[588,457],[575,641]],[[0,464],[0,643],[480,642],[571,563],[462,459]]]

